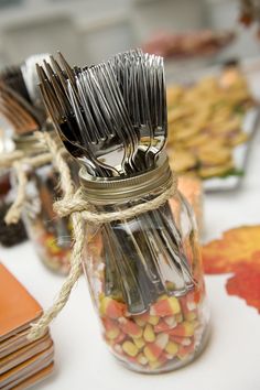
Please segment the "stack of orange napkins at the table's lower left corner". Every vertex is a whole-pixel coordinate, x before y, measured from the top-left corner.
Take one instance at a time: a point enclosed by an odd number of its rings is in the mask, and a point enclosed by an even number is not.
[[[46,332],[26,336],[42,307],[0,263],[0,389],[26,389],[53,371],[53,342]]]

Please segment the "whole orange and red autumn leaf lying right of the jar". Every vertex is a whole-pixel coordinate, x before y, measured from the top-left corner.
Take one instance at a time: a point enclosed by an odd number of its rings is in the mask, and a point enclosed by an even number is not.
[[[205,273],[228,273],[229,295],[243,299],[260,313],[260,226],[243,226],[224,232],[203,247]]]

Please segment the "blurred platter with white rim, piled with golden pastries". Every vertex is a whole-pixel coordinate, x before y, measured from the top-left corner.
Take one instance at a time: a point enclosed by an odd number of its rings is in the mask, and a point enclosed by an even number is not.
[[[239,186],[258,128],[259,96],[241,64],[208,68],[169,88],[170,165],[203,180],[206,192]],[[258,66],[257,66],[258,67]],[[194,74],[193,74],[194,76]]]

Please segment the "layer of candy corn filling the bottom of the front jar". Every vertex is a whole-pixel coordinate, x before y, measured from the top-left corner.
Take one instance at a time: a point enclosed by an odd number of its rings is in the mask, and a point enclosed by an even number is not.
[[[174,365],[194,353],[197,313],[194,291],[181,297],[164,294],[139,315],[130,315],[112,297],[100,297],[105,339],[116,354],[147,370]]]

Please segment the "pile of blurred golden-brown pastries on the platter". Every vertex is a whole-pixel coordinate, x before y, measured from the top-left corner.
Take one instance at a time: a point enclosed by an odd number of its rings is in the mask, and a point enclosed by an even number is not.
[[[170,163],[201,178],[240,174],[234,149],[248,141],[245,116],[256,104],[239,67],[167,90]]]

